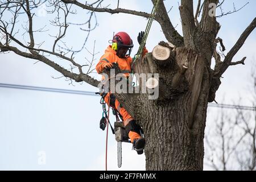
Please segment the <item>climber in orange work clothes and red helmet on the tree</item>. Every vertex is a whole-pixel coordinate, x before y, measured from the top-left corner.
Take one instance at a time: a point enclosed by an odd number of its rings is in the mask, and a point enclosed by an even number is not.
[[[138,35],[138,43],[141,44],[144,32]],[[118,64],[121,72],[128,77],[131,73],[131,63],[133,59],[130,57],[131,49],[133,48],[133,40],[126,32],[118,32],[114,35],[112,45],[108,46],[105,54],[101,56],[100,61],[96,65],[96,71],[100,74],[104,69],[113,68],[113,64]],[[147,53],[144,47],[143,55]],[[104,80],[104,76],[102,77]],[[114,94],[102,93],[105,102],[118,111],[122,116],[123,125],[125,126],[126,133],[133,143],[133,148],[138,154],[143,154],[145,139],[140,135],[141,127],[137,125],[135,119],[126,111],[120,102],[115,98]]]

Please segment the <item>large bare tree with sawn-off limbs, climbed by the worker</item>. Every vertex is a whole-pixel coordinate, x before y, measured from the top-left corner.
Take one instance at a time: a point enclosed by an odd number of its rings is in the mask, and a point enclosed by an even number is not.
[[[195,1],[180,0],[179,2],[182,35],[175,30],[172,17],[166,9],[171,1],[159,0],[154,20],[159,23],[169,43],[160,42],[151,53],[147,53],[143,59],[136,61],[133,65],[133,72],[138,75],[159,73],[159,84],[156,85],[159,87],[158,99],[148,100],[148,94],[144,93],[114,93],[125,110],[144,130],[144,138],[147,140],[144,148],[147,170],[203,169],[204,130],[208,102],[215,100],[215,94],[226,70],[233,65],[244,64],[246,57],[236,61],[237,58],[234,56],[256,27],[256,17],[251,17],[251,23],[221,59],[216,49],[217,44],[221,44],[222,50],[225,48],[221,39],[217,37],[221,30],[217,19],[226,14],[221,11],[221,15],[216,15],[212,10],[214,7],[221,8],[224,1],[198,0],[196,9],[193,7]],[[88,32],[88,36],[89,32],[97,27],[97,20],[94,21],[94,27],[90,22],[96,13],[124,13],[143,18],[151,17],[151,14],[146,12],[129,10],[125,7],[110,8],[104,6],[102,1],[83,3],[80,0],[61,0],[61,2],[49,1],[48,4],[50,6],[47,6],[47,9],[52,9],[51,12],[56,15],[56,19],[50,23],[58,28],[56,28],[56,34],[51,36],[54,39],[52,46],[49,47],[47,44],[43,48],[43,43],[41,44],[40,40],[34,36],[39,34],[38,27],[34,24],[38,16],[31,13],[38,4],[34,0],[0,1],[1,53],[11,51],[19,56],[38,60],[70,80],[84,81],[96,87],[99,81],[89,75],[92,64],[84,65],[83,60],[75,57],[79,51],[65,48],[67,44],[63,38],[68,34],[67,29],[76,26],[68,23],[67,19],[70,14],[75,13],[72,8],[80,7],[90,12],[89,20],[86,22],[89,31],[80,28]],[[20,14],[24,16],[18,16]],[[60,15],[64,18],[60,18]],[[84,23],[81,26],[83,25]],[[24,34],[27,40],[22,40],[18,36],[19,27],[25,27]],[[41,31],[40,35],[43,36],[43,34],[44,32]],[[48,35],[48,32],[45,34]],[[71,36],[74,35],[71,34]],[[87,38],[85,42],[86,40]],[[61,46],[56,48],[57,44]],[[216,63],[214,68],[210,67],[212,58]],[[63,61],[71,63],[71,71]],[[86,67],[88,67],[87,72]],[[76,68],[76,71],[73,68]]]

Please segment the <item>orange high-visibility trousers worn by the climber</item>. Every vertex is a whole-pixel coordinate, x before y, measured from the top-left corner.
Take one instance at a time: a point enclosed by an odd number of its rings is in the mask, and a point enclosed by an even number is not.
[[[104,97],[104,101],[109,105],[109,99],[110,99],[110,93],[107,93],[106,96]],[[120,106],[120,102],[115,98],[115,103],[114,105],[111,105],[114,109],[117,109],[117,111],[122,115],[123,117],[123,125],[127,125],[130,121],[133,121],[133,117],[123,108]],[[133,143],[134,139],[140,138],[141,135],[134,131],[129,132],[129,138],[131,139],[131,143]]]

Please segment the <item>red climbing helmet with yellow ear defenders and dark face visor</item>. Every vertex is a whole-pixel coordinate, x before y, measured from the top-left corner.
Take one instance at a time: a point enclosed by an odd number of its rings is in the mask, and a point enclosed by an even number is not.
[[[115,34],[112,42],[112,49],[117,51],[117,56],[122,58],[130,56],[131,49],[133,48],[133,40],[131,40],[130,36],[126,32],[118,32],[117,34]],[[120,49],[122,48],[127,48],[127,51],[129,51],[129,53],[119,53]]]

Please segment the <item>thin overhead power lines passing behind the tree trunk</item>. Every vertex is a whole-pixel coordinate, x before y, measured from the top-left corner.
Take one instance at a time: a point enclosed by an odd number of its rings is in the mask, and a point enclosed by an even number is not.
[[[57,93],[69,93],[69,94],[81,94],[86,96],[99,96],[95,92],[81,91],[81,90],[68,90],[68,89],[55,89],[55,88],[46,88],[39,86],[27,86],[27,85],[13,85],[13,84],[2,84],[0,87],[3,88],[13,88],[13,89],[26,89],[26,90],[38,90],[45,92],[57,92]],[[229,104],[214,104],[209,103],[209,107],[221,107],[226,109],[242,109],[242,110],[253,110],[256,111],[256,107],[253,106],[240,106],[240,105],[229,105]]]

